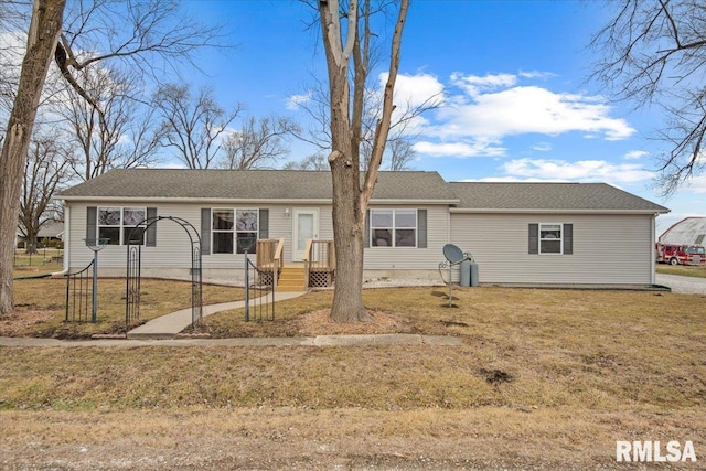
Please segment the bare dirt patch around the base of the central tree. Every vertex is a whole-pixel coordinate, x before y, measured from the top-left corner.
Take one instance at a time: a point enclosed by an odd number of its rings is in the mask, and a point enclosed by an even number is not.
[[[384,333],[411,333],[414,328],[399,314],[388,311],[368,311],[371,322],[339,323],[331,320],[330,309],[320,309],[296,320],[302,336],[315,335],[372,335]]]

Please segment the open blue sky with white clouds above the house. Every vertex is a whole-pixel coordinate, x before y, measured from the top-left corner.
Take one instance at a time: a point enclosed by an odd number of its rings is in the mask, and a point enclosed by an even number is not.
[[[286,115],[312,75],[325,81],[311,10],[289,0],[190,0],[204,22],[222,22],[236,47],[202,54],[194,84],[208,83],[222,105],[256,117]],[[591,33],[607,20],[598,1],[413,1],[405,26],[399,99],[440,94],[443,106],[417,122],[416,170],[450,181],[607,182],[672,210],[657,234],[687,215],[706,216],[706,175],[668,200],[654,189],[649,139],[653,110],[610,103],[588,83]],[[388,25],[388,33],[392,26]],[[378,73],[384,73],[384,67]],[[312,153],[292,143],[291,160]]]

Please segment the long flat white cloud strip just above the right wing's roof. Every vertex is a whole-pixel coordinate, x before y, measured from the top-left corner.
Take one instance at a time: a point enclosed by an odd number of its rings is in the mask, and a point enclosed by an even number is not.
[[[635,183],[654,176],[653,172],[639,164],[614,164],[605,160],[516,159],[504,163],[502,169],[513,178],[581,182]]]

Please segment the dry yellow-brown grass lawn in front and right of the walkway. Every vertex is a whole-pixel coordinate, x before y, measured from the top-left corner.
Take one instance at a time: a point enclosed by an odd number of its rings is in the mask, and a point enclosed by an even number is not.
[[[366,290],[381,332],[461,346],[2,347],[10,469],[635,469],[616,440],[706,461],[706,297]],[[313,335],[330,292],[212,335]],[[312,314],[312,312],[318,312]],[[320,322],[312,322],[314,317]],[[391,321],[392,320],[392,321]],[[660,464],[657,469],[670,469]]]

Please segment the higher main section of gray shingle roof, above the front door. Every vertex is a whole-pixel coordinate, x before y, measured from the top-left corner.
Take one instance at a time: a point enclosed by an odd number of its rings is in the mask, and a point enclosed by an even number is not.
[[[331,173],[116,169],[73,186],[60,193],[58,197],[331,200]],[[437,172],[379,172],[373,200],[458,201]]]

